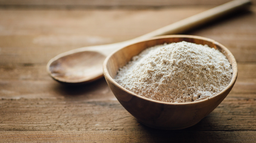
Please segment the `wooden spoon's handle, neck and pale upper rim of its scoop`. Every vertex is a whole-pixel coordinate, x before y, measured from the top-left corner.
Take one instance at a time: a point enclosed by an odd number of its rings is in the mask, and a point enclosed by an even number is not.
[[[198,27],[205,23],[209,23],[235,10],[247,8],[250,4],[251,4],[250,0],[233,0],[223,5],[203,11],[199,14],[185,18],[173,24],[164,26],[160,29],[157,29],[155,31],[152,31],[150,33],[147,33],[145,35],[139,36],[131,40],[126,40],[126,41],[112,43],[112,44],[106,44],[104,46],[96,45],[96,46],[89,46],[89,47],[81,47],[81,48],[77,48],[77,49],[62,53],[58,57],[63,55],[69,55],[76,52],[82,52],[82,51],[95,51],[105,56],[108,56],[113,51],[116,51],[117,49],[122,48],[123,46],[129,45],[131,43],[138,42],[138,40],[143,40],[146,38],[151,38],[151,37],[161,36],[161,35],[180,34],[181,32],[184,32],[186,30],[192,29],[194,27]]]

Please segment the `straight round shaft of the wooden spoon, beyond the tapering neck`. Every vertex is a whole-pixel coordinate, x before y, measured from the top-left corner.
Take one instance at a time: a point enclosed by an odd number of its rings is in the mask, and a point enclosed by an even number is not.
[[[198,27],[210,21],[213,21],[221,16],[229,14],[235,10],[245,8],[251,4],[250,0],[233,0],[223,5],[217,6],[215,8],[211,8],[209,10],[203,11],[194,16],[188,17],[176,23],[164,26],[160,29],[142,35],[134,40],[151,38],[155,36],[161,35],[172,35],[179,34],[186,30],[192,29],[194,27]]]

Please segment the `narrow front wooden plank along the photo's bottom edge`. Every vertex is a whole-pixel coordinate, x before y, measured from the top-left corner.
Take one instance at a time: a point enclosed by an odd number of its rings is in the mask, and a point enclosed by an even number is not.
[[[248,142],[256,131],[11,131],[0,132],[3,142]]]

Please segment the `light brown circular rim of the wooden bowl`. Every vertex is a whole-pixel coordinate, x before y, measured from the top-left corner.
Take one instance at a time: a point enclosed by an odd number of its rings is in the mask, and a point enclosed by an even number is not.
[[[230,60],[232,60],[232,63],[229,61],[231,68],[232,68],[232,77],[231,80],[229,82],[229,84],[219,93],[217,93],[214,96],[211,96],[209,98],[203,99],[203,100],[199,100],[199,101],[193,101],[193,102],[185,102],[185,103],[171,103],[171,102],[163,102],[163,101],[158,101],[158,100],[153,100],[153,99],[149,99],[143,96],[140,96],[136,93],[131,92],[130,90],[122,87],[121,85],[119,85],[109,74],[108,70],[107,70],[107,62],[109,61],[109,59],[111,58],[111,56],[113,56],[115,53],[117,53],[118,51],[122,50],[123,48],[126,48],[130,45],[136,44],[136,43],[140,43],[140,42],[146,42],[149,40],[156,40],[156,39],[164,39],[164,38],[192,38],[192,39],[200,39],[200,40],[204,40],[204,41],[209,41],[212,42],[215,45],[219,45],[224,52],[226,53],[226,55],[229,55]],[[149,48],[149,47],[147,47]],[[214,47],[211,47],[214,48]],[[223,52],[222,52],[223,53]],[[208,100],[211,100],[213,98],[217,98],[217,96],[221,96],[221,94],[223,94],[225,91],[229,90],[230,88],[232,88],[236,82],[237,79],[237,75],[238,75],[238,69],[237,69],[237,62],[235,57],[233,56],[233,54],[221,43],[209,39],[209,38],[205,38],[205,37],[201,37],[201,36],[194,36],[194,35],[165,35],[165,36],[157,36],[157,37],[153,37],[153,38],[148,38],[148,39],[143,39],[143,40],[139,40],[137,42],[131,43],[129,45],[123,46],[122,48],[117,49],[116,51],[112,52],[109,56],[106,57],[106,59],[103,62],[103,74],[104,77],[106,79],[108,79],[112,84],[114,84],[115,86],[117,86],[118,88],[121,88],[122,90],[124,90],[125,92],[128,92],[129,94],[136,96],[138,98],[150,101],[150,102],[155,102],[155,103],[161,103],[161,104],[171,104],[171,105],[187,105],[187,104],[197,104],[197,103],[202,103]],[[231,89],[230,89],[231,90]]]

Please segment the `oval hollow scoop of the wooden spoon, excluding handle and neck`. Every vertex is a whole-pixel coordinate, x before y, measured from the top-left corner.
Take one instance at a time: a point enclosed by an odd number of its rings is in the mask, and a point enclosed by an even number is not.
[[[94,51],[77,52],[53,59],[48,72],[63,83],[91,82],[103,76],[102,63],[105,58],[105,55]]]

